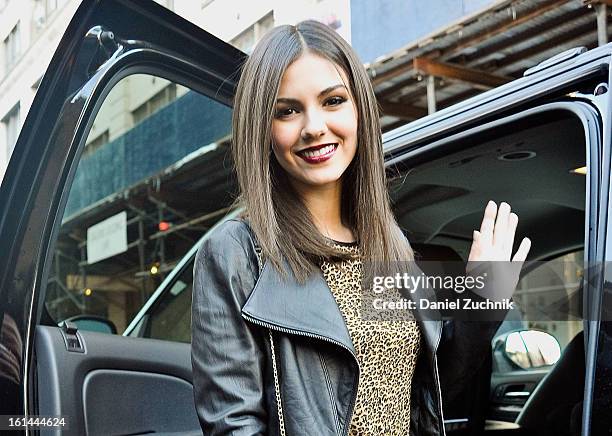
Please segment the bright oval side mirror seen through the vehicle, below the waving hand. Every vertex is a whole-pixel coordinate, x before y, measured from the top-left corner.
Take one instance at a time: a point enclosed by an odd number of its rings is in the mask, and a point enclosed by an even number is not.
[[[554,365],[561,357],[561,346],[550,333],[540,330],[519,330],[509,333],[504,355],[522,369]]]

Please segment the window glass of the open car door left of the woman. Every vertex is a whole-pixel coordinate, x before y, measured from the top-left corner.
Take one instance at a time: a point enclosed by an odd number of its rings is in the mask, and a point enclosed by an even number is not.
[[[45,296],[54,322],[93,315],[125,330],[226,212],[230,124],[229,107],[161,77],[134,74],[112,88],[68,193]],[[185,283],[170,290],[176,301],[190,299]],[[174,307],[157,308],[164,321],[153,317],[152,335],[166,323],[182,329]],[[185,339],[178,331],[165,337]]]

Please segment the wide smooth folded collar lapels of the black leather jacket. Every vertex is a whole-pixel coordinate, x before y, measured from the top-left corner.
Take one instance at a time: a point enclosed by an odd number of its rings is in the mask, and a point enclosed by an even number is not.
[[[277,330],[291,330],[296,334],[337,342],[356,355],[346,323],[323,273],[311,274],[300,285],[286,261],[285,271],[288,272],[287,278],[283,280],[276,268],[270,262],[265,262],[251,295],[242,307],[242,313]],[[418,310],[415,315],[429,357],[433,359],[442,332],[442,321],[424,320]]]

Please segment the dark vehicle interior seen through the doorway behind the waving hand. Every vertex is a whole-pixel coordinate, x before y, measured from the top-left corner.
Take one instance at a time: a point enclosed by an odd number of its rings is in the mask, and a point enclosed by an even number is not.
[[[528,368],[494,353],[469,383],[471,389],[445,405],[449,434],[480,434],[482,428],[495,434],[580,434],[580,312],[570,314],[568,308],[540,316],[528,313],[528,306],[542,296],[554,303],[581,300],[587,184],[586,176],[574,170],[586,164],[581,122],[570,112],[548,111],[398,165],[391,194],[417,259],[421,250],[423,261],[467,261],[472,231],[480,227],[487,201],[512,206],[519,216],[514,250],[525,236],[532,246],[517,289],[521,295],[515,294],[522,305],[508,314],[496,338],[512,330],[546,331],[562,352],[556,364],[534,362]],[[571,270],[571,279],[565,270]],[[536,304],[545,309],[548,303]]]

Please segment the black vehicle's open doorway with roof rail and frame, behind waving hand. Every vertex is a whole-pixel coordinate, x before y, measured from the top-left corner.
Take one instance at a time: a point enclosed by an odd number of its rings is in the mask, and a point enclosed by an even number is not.
[[[396,217],[411,243],[435,256],[424,260],[467,260],[491,199],[517,211],[516,241],[532,240],[513,296],[520,310],[444,403],[448,435],[610,434],[610,268],[603,280],[599,272],[610,260],[611,47],[561,53],[383,136],[387,163],[397,166]],[[571,274],[552,270],[559,266]],[[544,311],[557,303],[565,308]],[[508,338],[532,332],[558,358],[516,364]]]

